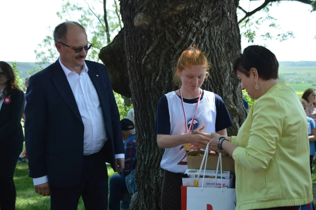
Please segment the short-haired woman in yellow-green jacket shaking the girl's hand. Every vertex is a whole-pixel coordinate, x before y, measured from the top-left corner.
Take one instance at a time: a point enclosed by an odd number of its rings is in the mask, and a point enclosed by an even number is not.
[[[278,67],[270,50],[246,47],[233,69],[257,100],[237,136],[203,133],[235,160],[238,210],[312,209],[306,114],[295,90],[278,82]]]

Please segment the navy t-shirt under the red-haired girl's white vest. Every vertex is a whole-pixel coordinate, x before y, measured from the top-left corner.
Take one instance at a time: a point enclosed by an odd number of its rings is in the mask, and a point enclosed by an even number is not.
[[[204,90],[201,94],[201,99],[203,99]],[[228,113],[228,110],[226,108],[226,105],[223,101],[223,99],[217,95],[215,95],[215,107],[216,107],[216,120],[215,120],[215,130],[220,131],[223,129],[226,129],[233,124],[232,119],[230,118],[230,115]],[[178,95],[179,96],[179,95]],[[180,96],[179,96],[180,98]],[[196,99],[183,99],[183,102],[188,104],[195,104],[197,103],[198,98]],[[157,105],[157,116],[159,114],[159,117],[156,117],[156,123],[155,123],[155,135],[162,134],[162,135],[170,135],[171,131],[171,125],[170,125],[170,115],[169,115],[169,108],[168,108],[168,100],[167,96],[162,96]],[[159,118],[159,119],[158,119]],[[159,124],[159,126],[158,126]],[[157,129],[159,128],[159,129]]]

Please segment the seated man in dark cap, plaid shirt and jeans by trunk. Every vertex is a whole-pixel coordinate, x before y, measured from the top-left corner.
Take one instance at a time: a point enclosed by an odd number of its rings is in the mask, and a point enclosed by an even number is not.
[[[125,167],[119,174],[112,175],[109,181],[110,197],[109,210],[119,210],[120,201],[124,194],[131,196],[136,192],[135,168],[136,168],[136,140],[134,123],[124,118],[121,120],[122,137],[125,148]],[[129,207],[129,202],[128,205]],[[125,205],[123,205],[125,209]],[[126,209],[128,209],[126,207]]]

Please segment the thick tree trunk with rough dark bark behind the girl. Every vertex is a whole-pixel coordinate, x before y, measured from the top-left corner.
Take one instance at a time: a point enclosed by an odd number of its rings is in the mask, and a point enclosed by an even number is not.
[[[138,193],[130,209],[160,209],[163,150],[154,135],[156,107],[161,96],[179,88],[172,77],[188,46],[197,44],[212,64],[203,89],[226,103],[234,122],[228,134],[236,134],[244,121],[240,83],[232,73],[241,51],[237,6],[238,0],[120,1],[124,28],[99,57],[109,69],[114,91],[133,98]]]

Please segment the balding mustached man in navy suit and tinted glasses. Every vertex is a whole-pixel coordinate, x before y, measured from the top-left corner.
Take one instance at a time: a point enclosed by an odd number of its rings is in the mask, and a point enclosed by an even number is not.
[[[124,168],[119,111],[103,64],[85,61],[84,28],[64,22],[54,30],[58,60],[31,76],[25,143],[34,190],[51,196],[52,210],[107,209],[106,162]]]

